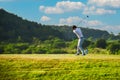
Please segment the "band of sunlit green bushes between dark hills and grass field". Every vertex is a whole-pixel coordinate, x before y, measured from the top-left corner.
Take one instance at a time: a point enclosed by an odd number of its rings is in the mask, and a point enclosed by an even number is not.
[[[31,43],[1,42],[0,54],[75,54],[77,41],[64,41],[56,37],[45,41],[34,38]],[[85,39],[83,48],[87,48],[92,54],[120,54],[120,40]]]

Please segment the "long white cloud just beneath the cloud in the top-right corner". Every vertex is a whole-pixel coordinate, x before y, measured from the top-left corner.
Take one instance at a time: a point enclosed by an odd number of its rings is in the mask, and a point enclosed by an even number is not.
[[[83,14],[91,15],[103,15],[103,14],[115,14],[115,10],[106,10],[104,8],[96,8],[95,6],[86,7],[83,11]]]

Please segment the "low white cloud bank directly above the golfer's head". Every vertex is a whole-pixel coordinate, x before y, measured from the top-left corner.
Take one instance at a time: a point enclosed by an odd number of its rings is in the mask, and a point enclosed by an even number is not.
[[[68,17],[68,18],[61,18],[59,20],[60,25],[77,25],[82,27],[99,27],[104,25],[102,22],[98,20],[91,20],[88,21],[87,19],[80,18],[78,16]]]

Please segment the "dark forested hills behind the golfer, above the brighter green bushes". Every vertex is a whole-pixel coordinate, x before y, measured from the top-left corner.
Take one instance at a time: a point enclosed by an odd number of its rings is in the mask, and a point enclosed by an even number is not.
[[[86,38],[108,39],[110,36],[107,31],[102,30],[82,28],[82,31]],[[38,24],[0,9],[0,41],[16,42],[22,40],[31,42],[34,38],[48,40],[50,37],[73,40],[76,36],[73,34],[71,27]]]

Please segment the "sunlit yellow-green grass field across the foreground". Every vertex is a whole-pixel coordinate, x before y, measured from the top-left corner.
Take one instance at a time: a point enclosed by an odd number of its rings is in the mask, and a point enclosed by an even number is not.
[[[0,80],[120,80],[120,55],[1,54]]]

